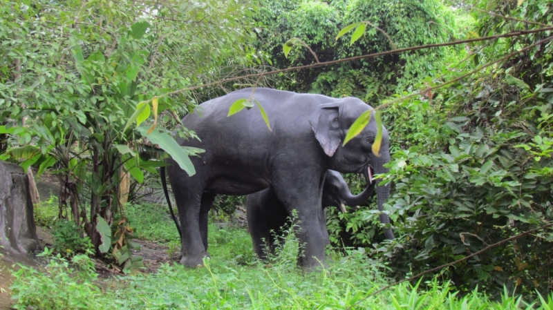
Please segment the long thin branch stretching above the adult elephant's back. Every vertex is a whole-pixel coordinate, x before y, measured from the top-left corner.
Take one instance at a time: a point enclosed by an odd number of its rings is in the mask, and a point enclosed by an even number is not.
[[[252,78],[252,77],[260,77],[260,76],[264,77],[266,75],[275,75],[275,74],[283,73],[283,72],[290,72],[290,71],[296,71],[296,70],[317,68],[317,67],[322,67],[322,66],[330,66],[330,65],[335,65],[335,64],[341,64],[341,63],[348,62],[348,61],[356,61],[356,60],[360,60],[360,59],[375,58],[375,57],[384,56],[384,55],[393,55],[393,54],[397,54],[397,53],[400,53],[400,52],[409,52],[409,51],[412,51],[412,50],[422,50],[422,49],[425,49],[425,48],[438,48],[438,47],[442,47],[442,46],[453,46],[453,45],[458,45],[458,44],[463,44],[463,43],[487,41],[487,40],[494,40],[494,39],[506,38],[506,37],[518,37],[518,36],[521,36],[521,35],[529,35],[529,34],[532,34],[532,33],[544,32],[544,31],[549,31],[549,30],[553,30],[553,26],[549,26],[549,27],[545,27],[545,28],[532,29],[532,30],[512,31],[512,32],[505,33],[503,35],[493,35],[493,36],[489,36],[489,37],[479,37],[479,38],[466,39],[466,40],[461,40],[461,41],[451,41],[451,42],[446,42],[446,43],[428,44],[428,45],[424,45],[424,46],[412,46],[412,47],[409,47],[409,48],[400,48],[398,50],[388,50],[386,52],[376,52],[376,53],[373,53],[373,54],[361,55],[361,56],[356,56],[356,57],[349,57],[349,58],[338,59],[338,60],[333,60],[333,61],[326,61],[326,62],[321,62],[321,63],[317,63],[317,64],[310,64],[310,65],[306,65],[306,66],[297,66],[297,67],[285,68],[285,69],[281,69],[281,70],[273,70],[273,71],[269,71],[269,72],[261,72],[261,73],[256,73],[256,74],[244,75],[242,77],[232,77],[232,78],[229,78],[229,79],[222,79],[220,81],[214,81],[212,83],[202,84],[202,85],[198,85],[198,86],[191,86],[191,87],[187,87],[187,88],[182,88],[180,90],[174,90],[172,92],[165,93],[163,95],[158,95],[156,97],[160,98],[160,97],[165,97],[165,96],[169,96],[169,95],[175,95],[175,94],[178,94],[178,93],[185,92],[187,90],[195,90],[195,89],[198,89],[198,88],[205,88],[205,87],[208,87],[208,86],[215,86],[215,85],[218,85],[218,84],[228,83],[230,81],[238,81],[240,79],[249,79],[249,78]],[[151,99],[140,101],[140,103],[149,102],[149,101],[151,101]]]

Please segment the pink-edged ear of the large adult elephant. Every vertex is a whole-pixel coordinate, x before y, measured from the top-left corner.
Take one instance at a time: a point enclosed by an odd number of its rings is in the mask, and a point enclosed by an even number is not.
[[[339,125],[341,103],[321,104],[309,118],[309,124],[315,133],[315,138],[321,144],[326,155],[332,157],[341,142]]]

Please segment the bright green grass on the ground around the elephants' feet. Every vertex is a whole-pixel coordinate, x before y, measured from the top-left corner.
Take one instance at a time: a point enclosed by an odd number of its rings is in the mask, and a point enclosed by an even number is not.
[[[148,206],[126,209],[141,238],[171,244],[178,233],[166,213]],[[173,238],[175,240],[173,240]],[[328,252],[330,268],[310,273],[296,267],[298,242],[288,237],[278,257],[256,262],[247,231],[209,225],[211,260],[206,267],[187,269],[163,264],[156,273],[98,280],[84,255],[71,268],[53,258],[45,271],[23,268],[15,273],[17,309],[347,309],[367,293],[388,284],[386,268],[362,251]],[[553,294],[527,303],[503,294],[491,301],[474,291],[459,297],[449,284],[421,280],[402,283],[363,300],[352,309],[553,309]]]

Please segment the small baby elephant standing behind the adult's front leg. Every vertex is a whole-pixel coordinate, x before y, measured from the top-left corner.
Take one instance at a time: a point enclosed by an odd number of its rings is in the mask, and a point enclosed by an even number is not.
[[[368,197],[371,197],[375,189],[376,182],[367,177],[367,187],[359,195],[353,195],[344,177],[337,171],[328,170],[323,187],[322,207],[323,212],[319,213],[319,224],[321,231],[324,233],[325,244],[330,244],[328,230],[326,229],[326,212],[327,206],[336,206],[341,212],[346,212],[344,204],[355,206],[366,202]],[[288,216],[290,215],[280,202],[272,188],[266,188],[263,191],[247,195],[246,198],[246,214],[247,226],[252,235],[254,242],[254,252],[265,260],[267,251],[265,244],[269,246],[270,253],[274,253],[275,242],[281,242],[285,237],[285,231],[282,227],[286,222],[290,223]],[[273,232],[271,232],[273,231]]]

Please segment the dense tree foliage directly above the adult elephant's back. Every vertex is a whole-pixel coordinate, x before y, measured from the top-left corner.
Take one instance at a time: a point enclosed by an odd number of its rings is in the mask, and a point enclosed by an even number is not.
[[[294,47],[288,59],[285,58],[281,46],[293,37],[310,46],[319,61],[456,39],[453,14],[435,0],[279,0],[260,1],[260,6],[260,13],[255,18],[266,28],[259,33],[256,46],[270,53],[272,65],[277,68],[315,63],[310,52],[300,46]],[[335,40],[341,28],[359,21],[371,24],[357,43],[350,46],[348,37]],[[279,79],[277,87],[333,97],[353,95],[374,105],[378,99],[431,74],[435,59],[444,57],[448,52],[451,51],[435,49],[406,52],[300,70]]]

